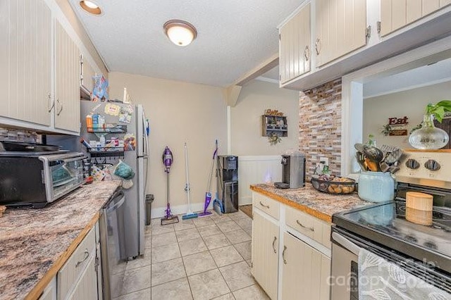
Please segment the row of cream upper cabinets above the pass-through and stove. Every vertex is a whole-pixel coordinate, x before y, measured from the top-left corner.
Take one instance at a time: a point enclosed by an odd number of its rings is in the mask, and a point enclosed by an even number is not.
[[[280,28],[280,87],[302,91],[451,35],[451,0],[309,0]],[[302,23],[311,8],[310,32]],[[303,23],[305,24],[305,23]],[[304,37],[299,37],[304,35]],[[304,39],[309,48],[302,49]],[[292,42],[297,41],[297,42]],[[311,49],[309,63],[300,62]],[[304,58],[302,58],[304,57]],[[304,59],[304,62],[306,60]]]

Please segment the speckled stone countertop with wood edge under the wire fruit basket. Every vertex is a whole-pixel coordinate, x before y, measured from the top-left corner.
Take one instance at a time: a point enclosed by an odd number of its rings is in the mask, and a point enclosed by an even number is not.
[[[278,189],[273,185],[251,185],[252,191],[309,213],[316,218],[332,223],[332,215],[359,206],[373,203],[359,198],[357,193],[333,195],[319,192],[310,183],[299,189]]]

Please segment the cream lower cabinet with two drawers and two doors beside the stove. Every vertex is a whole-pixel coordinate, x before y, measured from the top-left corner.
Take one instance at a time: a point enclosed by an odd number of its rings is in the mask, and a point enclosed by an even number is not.
[[[330,298],[330,224],[252,193],[252,275],[272,300]]]

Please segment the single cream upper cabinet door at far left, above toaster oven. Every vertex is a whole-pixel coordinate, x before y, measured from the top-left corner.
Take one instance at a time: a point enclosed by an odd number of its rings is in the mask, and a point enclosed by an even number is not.
[[[51,11],[43,0],[0,1],[0,116],[51,124]]]

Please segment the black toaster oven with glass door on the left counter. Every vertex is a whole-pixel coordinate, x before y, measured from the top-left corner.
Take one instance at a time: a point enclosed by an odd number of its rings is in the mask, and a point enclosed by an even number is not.
[[[0,205],[43,208],[84,183],[85,154],[0,152]]]

